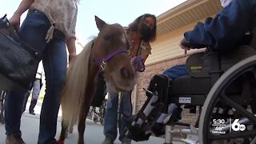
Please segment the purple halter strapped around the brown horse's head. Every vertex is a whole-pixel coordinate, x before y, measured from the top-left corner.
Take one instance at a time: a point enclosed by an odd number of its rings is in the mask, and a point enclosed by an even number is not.
[[[128,52],[124,48],[119,48],[118,50],[115,50],[113,53],[108,54],[106,58],[102,58],[102,59],[94,58],[93,61],[98,63],[101,66],[101,70],[104,71],[106,67],[106,62],[109,62],[112,58],[122,53],[128,53]]]

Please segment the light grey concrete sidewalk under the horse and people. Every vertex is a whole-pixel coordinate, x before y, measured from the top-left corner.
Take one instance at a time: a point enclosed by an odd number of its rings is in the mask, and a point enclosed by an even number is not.
[[[29,107],[30,101],[27,103],[27,108]],[[22,114],[22,138],[26,142],[26,144],[36,144],[38,141],[38,131],[39,131],[39,114],[41,110],[42,102],[38,102],[37,106],[35,107],[36,115],[32,115],[28,113],[28,110],[24,114]],[[58,130],[56,134],[56,139],[61,131],[61,110],[59,112],[58,117]],[[104,140],[105,136],[103,135],[103,126],[98,123],[94,123],[90,119],[86,120],[86,132],[84,134],[85,143],[86,144],[101,144]],[[5,127],[3,124],[0,123],[0,144],[5,144],[6,134],[5,134]],[[78,140],[78,130],[77,126],[74,126],[73,134],[69,134],[68,138],[66,138],[66,144],[74,144],[77,143]],[[117,139],[115,144],[121,144]],[[164,143],[163,138],[156,138],[150,137],[149,141],[145,142],[132,142],[135,143],[142,143],[142,144],[162,144]]]

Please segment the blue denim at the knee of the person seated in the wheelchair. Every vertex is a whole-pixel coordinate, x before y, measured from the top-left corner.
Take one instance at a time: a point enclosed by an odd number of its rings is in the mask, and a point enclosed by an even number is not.
[[[172,66],[169,69],[165,70],[162,74],[168,75],[172,81],[174,79],[188,75],[189,73],[186,71],[186,65],[177,65]]]

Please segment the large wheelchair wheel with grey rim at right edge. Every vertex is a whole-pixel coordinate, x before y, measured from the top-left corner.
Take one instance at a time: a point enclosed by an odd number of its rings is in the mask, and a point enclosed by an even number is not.
[[[199,122],[200,143],[254,143],[255,99],[256,56],[252,56],[227,70],[210,90]]]

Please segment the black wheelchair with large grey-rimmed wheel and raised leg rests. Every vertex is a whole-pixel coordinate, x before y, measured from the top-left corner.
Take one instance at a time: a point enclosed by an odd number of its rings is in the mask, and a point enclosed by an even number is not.
[[[256,50],[250,46],[233,52],[206,49],[187,58],[186,70],[189,75],[174,81],[164,74],[154,75],[144,106],[124,134],[137,142],[165,134],[165,144],[256,143]],[[165,130],[154,130],[170,103],[178,108]],[[183,109],[194,111],[196,106],[200,114],[194,126],[179,122]]]

